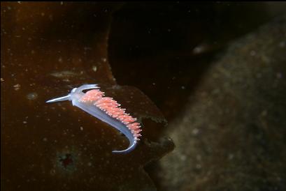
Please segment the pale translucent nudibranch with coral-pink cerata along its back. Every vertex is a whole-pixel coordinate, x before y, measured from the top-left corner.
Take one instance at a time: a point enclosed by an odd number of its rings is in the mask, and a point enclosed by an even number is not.
[[[84,93],[84,90],[88,90]],[[61,98],[48,100],[47,102],[59,102],[70,100],[73,106],[83,109],[85,112],[95,116],[103,122],[108,123],[129,139],[129,147],[123,151],[112,151],[113,153],[129,153],[135,147],[141,137],[141,126],[137,119],[120,108],[113,98],[104,97],[103,91],[99,90],[97,84],[85,84],[71,90],[69,95]]]

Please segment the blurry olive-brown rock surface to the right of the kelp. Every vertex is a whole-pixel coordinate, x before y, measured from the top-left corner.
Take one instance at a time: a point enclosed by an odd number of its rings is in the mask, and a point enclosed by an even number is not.
[[[234,40],[168,133],[161,190],[286,190],[286,16]]]

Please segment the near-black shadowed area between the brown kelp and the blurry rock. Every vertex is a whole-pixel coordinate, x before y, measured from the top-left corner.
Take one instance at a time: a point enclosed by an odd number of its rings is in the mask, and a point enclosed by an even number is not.
[[[267,3],[125,3],[108,57],[119,84],[141,89],[169,121],[180,115],[214,55],[275,14]]]

